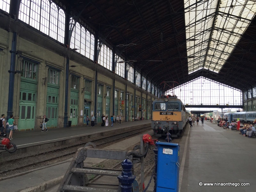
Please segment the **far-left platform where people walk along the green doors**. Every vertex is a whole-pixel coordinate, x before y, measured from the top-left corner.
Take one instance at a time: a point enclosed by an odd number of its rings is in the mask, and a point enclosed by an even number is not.
[[[76,140],[85,139],[88,137],[97,137],[98,135],[111,134],[115,130],[127,129],[127,127],[132,126],[151,126],[151,120],[141,120],[141,121],[127,121],[121,122],[121,124],[114,124],[111,127],[101,126],[101,124],[96,124],[94,127],[90,125],[85,126],[71,126],[62,128],[48,129],[46,132],[41,132],[42,130],[33,131],[14,131],[12,137],[12,142],[17,146],[17,153],[28,152],[29,150],[40,150],[43,148],[49,148],[51,145],[56,146],[58,142],[63,144],[63,142],[75,142]],[[98,133],[98,134],[97,134]],[[7,136],[9,133],[7,133]],[[23,150],[22,150],[23,149]],[[0,157],[9,156],[6,151],[0,151]]]

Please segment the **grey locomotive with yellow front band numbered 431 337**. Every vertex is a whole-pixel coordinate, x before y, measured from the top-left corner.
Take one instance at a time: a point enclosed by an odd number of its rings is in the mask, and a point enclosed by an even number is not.
[[[161,137],[169,132],[171,137],[178,137],[188,122],[190,114],[176,95],[162,97],[153,101],[151,127],[154,135]]]

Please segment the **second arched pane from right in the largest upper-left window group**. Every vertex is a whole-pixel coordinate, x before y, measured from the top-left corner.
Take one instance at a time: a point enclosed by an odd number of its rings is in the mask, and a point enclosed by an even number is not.
[[[51,3],[51,17],[50,17],[50,34],[53,39],[57,39],[58,34],[58,7]]]

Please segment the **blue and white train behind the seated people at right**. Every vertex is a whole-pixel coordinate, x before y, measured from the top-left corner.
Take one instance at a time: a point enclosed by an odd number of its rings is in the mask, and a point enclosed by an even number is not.
[[[237,121],[237,118],[239,118],[240,122],[253,123],[256,118],[256,111],[224,113],[223,118],[226,119],[226,117],[228,117],[229,122]]]

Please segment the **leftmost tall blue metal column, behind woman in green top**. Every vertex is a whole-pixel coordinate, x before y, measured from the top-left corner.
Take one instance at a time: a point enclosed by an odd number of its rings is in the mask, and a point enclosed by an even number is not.
[[[10,67],[10,81],[9,81],[9,94],[8,94],[8,109],[7,109],[7,119],[10,119],[12,115],[13,106],[13,90],[14,90],[14,70],[15,70],[15,60],[16,60],[16,44],[17,44],[17,33],[13,33],[12,36],[12,50],[11,50],[11,67]]]

